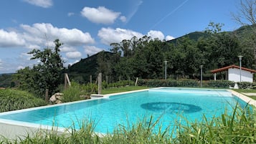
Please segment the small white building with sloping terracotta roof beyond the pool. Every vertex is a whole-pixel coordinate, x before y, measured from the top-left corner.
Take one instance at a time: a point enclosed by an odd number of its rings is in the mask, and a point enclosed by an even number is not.
[[[227,72],[226,80],[240,82],[240,67],[237,65],[230,65],[227,67],[222,67],[220,69],[214,69],[211,72],[214,74],[214,80],[216,80],[217,72]],[[254,69],[247,69],[241,67],[241,82],[253,82],[253,74],[256,72]]]

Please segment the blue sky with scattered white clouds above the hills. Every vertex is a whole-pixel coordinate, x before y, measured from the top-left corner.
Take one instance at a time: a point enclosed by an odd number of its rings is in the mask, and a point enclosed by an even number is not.
[[[209,22],[223,31],[240,27],[231,13],[240,0],[1,0],[0,74],[33,67],[32,49],[60,48],[65,67],[123,39],[147,35],[171,40],[202,32]]]

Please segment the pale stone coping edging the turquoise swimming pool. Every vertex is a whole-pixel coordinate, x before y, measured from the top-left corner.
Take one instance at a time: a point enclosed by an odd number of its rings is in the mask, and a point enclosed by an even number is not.
[[[162,87],[155,87],[151,89],[159,89]],[[177,87],[173,87],[177,88]],[[186,88],[186,89],[203,89],[203,88],[187,88],[187,87],[179,87],[179,88]],[[62,104],[56,104],[56,105],[46,105],[42,107],[32,107],[24,110],[14,110],[14,111],[9,111],[9,112],[0,112],[0,115],[6,115],[6,114],[11,114],[11,113],[16,113],[16,112],[25,112],[29,110],[37,110],[37,109],[42,109],[42,108],[47,108],[47,107],[57,107],[60,105],[69,105],[69,104],[74,104],[74,103],[79,103],[79,102],[85,102],[85,101],[90,101],[90,100],[96,100],[96,99],[104,99],[108,98],[110,96],[114,95],[123,95],[123,94],[128,94],[132,92],[143,92],[149,89],[143,89],[143,90],[133,90],[133,91],[128,91],[128,92],[118,92],[118,93],[113,93],[113,94],[107,94],[107,95],[98,95],[98,94],[93,94],[92,99],[89,100],[80,100],[80,101],[75,101],[75,102],[65,102]],[[207,89],[203,89],[207,90]],[[209,89],[209,90],[214,90],[214,89]],[[218,90],[227,90],[227,89],[218,89]],[[247,97],[245,95],[242,95],[239,92],[235,92],[234,90],[227,90],[232,93],[232,95],[239,97],[241,100],[249,103],[250,105],[254,105],[256,107],[256,100],[251,99],[250,97]],[[27,123],[27,122],[20,122],[16,120],[6,120],[6,119],[1,119],[0,118],[0,135],[4,136],[4,138],[9,138],[12,140],[15,140],[16,138],[25,138],[26,135],[33,135],[37,133],[39,130],[56,130],[58,133],[66,133],[70,131],[68,128],[61,128],[57,126],[50,126],[50,125],[40,125],[40,124],[33,124],[33,123]],[[100,134],[100,133],[99,133]]]

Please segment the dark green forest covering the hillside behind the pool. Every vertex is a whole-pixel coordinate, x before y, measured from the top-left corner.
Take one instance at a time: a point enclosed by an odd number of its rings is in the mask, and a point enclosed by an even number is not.
[[[219,32],[217,24],[205,32],[187,34],[168,42],[147,36],[140,39],[133,37],[110,44],[110,52],[100,52],[97,58],[92,56],[93,61],[90,57],[82,59],[81,62],[86,61],[87,64],[78,62],[67,72],[72,80],[82,83],[89,81],[89,75],[97,77],[99,72],[113,81],[135,80],[136,77],[163,79],[164,61],[167,61],[167,78],[199,79],[200,65],[203,65],[204,80],[212,80],[211,70],[231,64],[239,65],[239,55],[243,56],[242,67],[255,69],[254,37],[250,26],[234,32]],[[90,72],[86,75],[81,69],[90,69]],[[224,73],[219,73],[217,78],[224,79]]]

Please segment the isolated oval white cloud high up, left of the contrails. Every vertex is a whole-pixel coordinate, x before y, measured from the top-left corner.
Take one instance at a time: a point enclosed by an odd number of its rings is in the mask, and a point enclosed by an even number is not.
[[[84,7],[81,14],[89,19],[89,21],[97,24],[113,24],[120,15],[120,12],[111,11],[104,6],[99,6],[97,9]]]

